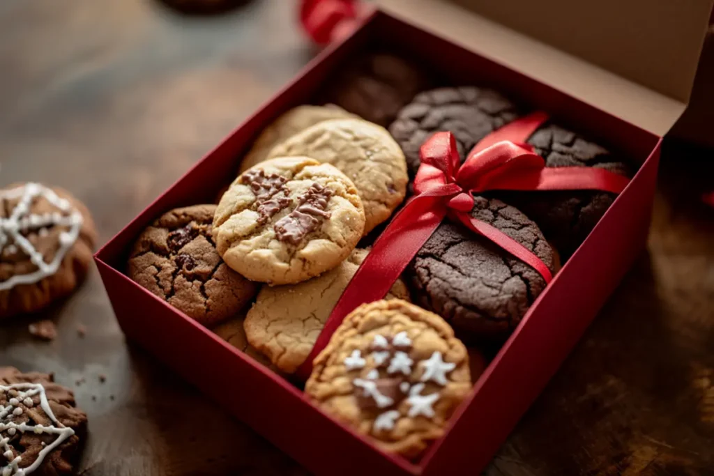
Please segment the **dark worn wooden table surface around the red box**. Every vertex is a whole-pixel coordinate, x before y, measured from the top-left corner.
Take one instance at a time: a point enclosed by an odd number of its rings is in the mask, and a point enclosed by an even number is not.
[[[315,54],[292,4],[191,18],[151,0],[0,1],[0,184],[68,188],[106,242]],[[668,146],[647,252],[487,475],[714,475],[707,178],[713,153]],[[51,343],[26,320],[0,328],[0,365],[74,389],[90,418],[83,474],[306,474],[127,344],[96,269],[46,315]]]

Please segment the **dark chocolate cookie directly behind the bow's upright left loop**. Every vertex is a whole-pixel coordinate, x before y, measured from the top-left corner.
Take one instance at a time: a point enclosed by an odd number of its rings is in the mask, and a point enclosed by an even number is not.
[[[419,149],[438,131],[456,138],[461,161],[489,133],[518,117],[516,106],[488,88],[438,88],[418,94],[399,111],[389,132],[401,146],[411,176],[421,164]]]

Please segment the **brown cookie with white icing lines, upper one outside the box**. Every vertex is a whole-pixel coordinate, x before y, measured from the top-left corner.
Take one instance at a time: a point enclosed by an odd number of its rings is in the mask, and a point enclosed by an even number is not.
[[[39,183],[0,190],[0,319],[72,293],[95,241],[89,211],[68,192]]]

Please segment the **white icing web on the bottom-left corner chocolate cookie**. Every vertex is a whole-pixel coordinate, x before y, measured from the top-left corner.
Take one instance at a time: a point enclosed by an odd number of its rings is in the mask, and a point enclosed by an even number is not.
[[[6,407],[0,406],[0,434],[2,432],[7,432],[8,435],[14,436],[16,432],[35,432],[35,433],[49,433],[51,435],[57,435],[56,439],[51,442],[49,445],[46,445],[42,448],[42,450],[38,453],[36,460],[29,465],[28,467],[20,468],[19,464],[21,462],[21,457],[16,457],[14,460],[11,460],[9,464],[5,466],[1,466],[0,470],[2,470],[1,475],[2,476],[26,476],[29,475],[31,472],[34,472],[42,462],[44,461],[44,458],[52,452],[56,447],[62,444],[64,440],[67,438],[71,437],[74,435],[74,430],[71,428],[65,427],[62,425],[57,418],[54,416],[54,413],[52,412],[52,409],[49,406],[49,402],[47,401],[47,395],[45,393],[44,387],[39,384],[39,383],[15,383],[13,385],[0,385],[0,393],[7,392],[9,395],[16,397],[11,400],[16,400],[18,403],[22,400],[24,401],[27,398],[34,397],[35,395],[39,395],[40,397],[40,407],[42,408],[42,411],[45,412],[45,415],[51,420],[51,422],[54,423],[54,425],[49,425],[49,426],[43,426],[43,425],[28,425],[27,423],[14,423],[12,422],[12,417],[15,414],[16,410],[20,410],[20,413],[22,413],[22,409],[19,407],[16,407],[15,405],[12,405],[11,402],[8,402],[9,405]],[[56,425],[56,426],[55,426]],[[4,455],[7,457],[7,452],[12,453],[12,447],[9,445],[10,439],[9,438],[0,438],[0,451],[3,452]],[[10,457],[7,457],[8,460],[10,460]]]

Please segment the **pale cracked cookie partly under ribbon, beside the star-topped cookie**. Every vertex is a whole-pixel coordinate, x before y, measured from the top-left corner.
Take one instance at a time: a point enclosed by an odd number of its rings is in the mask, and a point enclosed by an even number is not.
[[[366,258],[357,249],[336,268],[296,285],[268,287],[258,293],[246,316],[246,338],[277,368],[294,373],[305,362],[342,292]],[[386,299],[409,299],[397,280]]]

